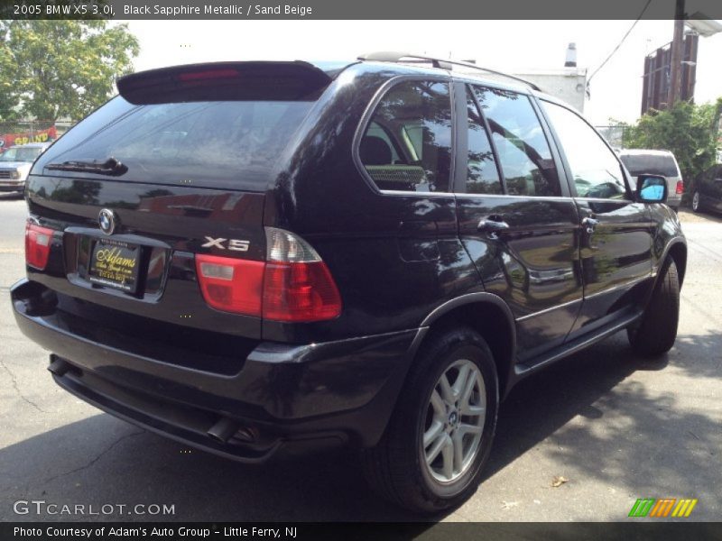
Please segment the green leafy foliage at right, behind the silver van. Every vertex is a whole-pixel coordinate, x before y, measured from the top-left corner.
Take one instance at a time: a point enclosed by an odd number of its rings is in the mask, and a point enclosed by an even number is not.
[[[717,159],[717,129],[722,97],[715,104],[680,101],[671,109],[651,111],[626,126],[625,148],[672,151],[682,178],[691,180]],[[689,191],[685,189],[685,191]]]

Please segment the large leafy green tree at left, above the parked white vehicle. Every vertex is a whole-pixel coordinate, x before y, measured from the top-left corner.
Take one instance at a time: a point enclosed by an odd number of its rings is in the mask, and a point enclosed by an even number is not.
[[[78,120],[106,102],[140,47],[125,24],[0,21],[0,120]]]

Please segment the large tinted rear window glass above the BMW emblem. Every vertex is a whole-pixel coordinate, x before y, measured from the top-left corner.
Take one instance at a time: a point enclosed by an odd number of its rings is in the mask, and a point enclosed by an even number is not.
[[[135,106],[116,97],[62,137],[42,165],[113,157],[128,168],[119,177],[123,180],[263,191],[275,161],[312,105],[214,101]]]

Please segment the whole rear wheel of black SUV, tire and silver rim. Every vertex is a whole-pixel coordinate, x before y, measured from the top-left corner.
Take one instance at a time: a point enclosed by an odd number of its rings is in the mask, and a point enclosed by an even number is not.
[[[494,356],[468,327],[421,345],[381,441],[364,452],[376,491],[421,512],[476,491],[491,449],[499,390]]]

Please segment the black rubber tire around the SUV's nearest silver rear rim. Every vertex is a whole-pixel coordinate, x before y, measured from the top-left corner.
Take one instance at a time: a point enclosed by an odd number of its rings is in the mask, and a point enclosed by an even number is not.
[[[475,396],[479,404],[486,402],[486,417],[476,417],[479,426],[483,423],[476,455],[469,453],[467,466],[459,469],[458,479],[442,483],[433,478],[422,459],[426,453],[422,435],[428,429],[425,424],[431,393],[437,389],[441,375],[453,373],[458,363],[467,361],[477,366],[483,380],[486,400],[476,391]],[[414,512],[436,513],[458,505],[476,491],[481,481],[494,439],[498,402],[494,357],[477,332],[461,327],[430,336],[421,346],[384,436],[374,448],[362,451],[367,481],[387,500]],[[463,419],[459,408],[458,422]],[[466,437],[461,436],[462,441]]]

